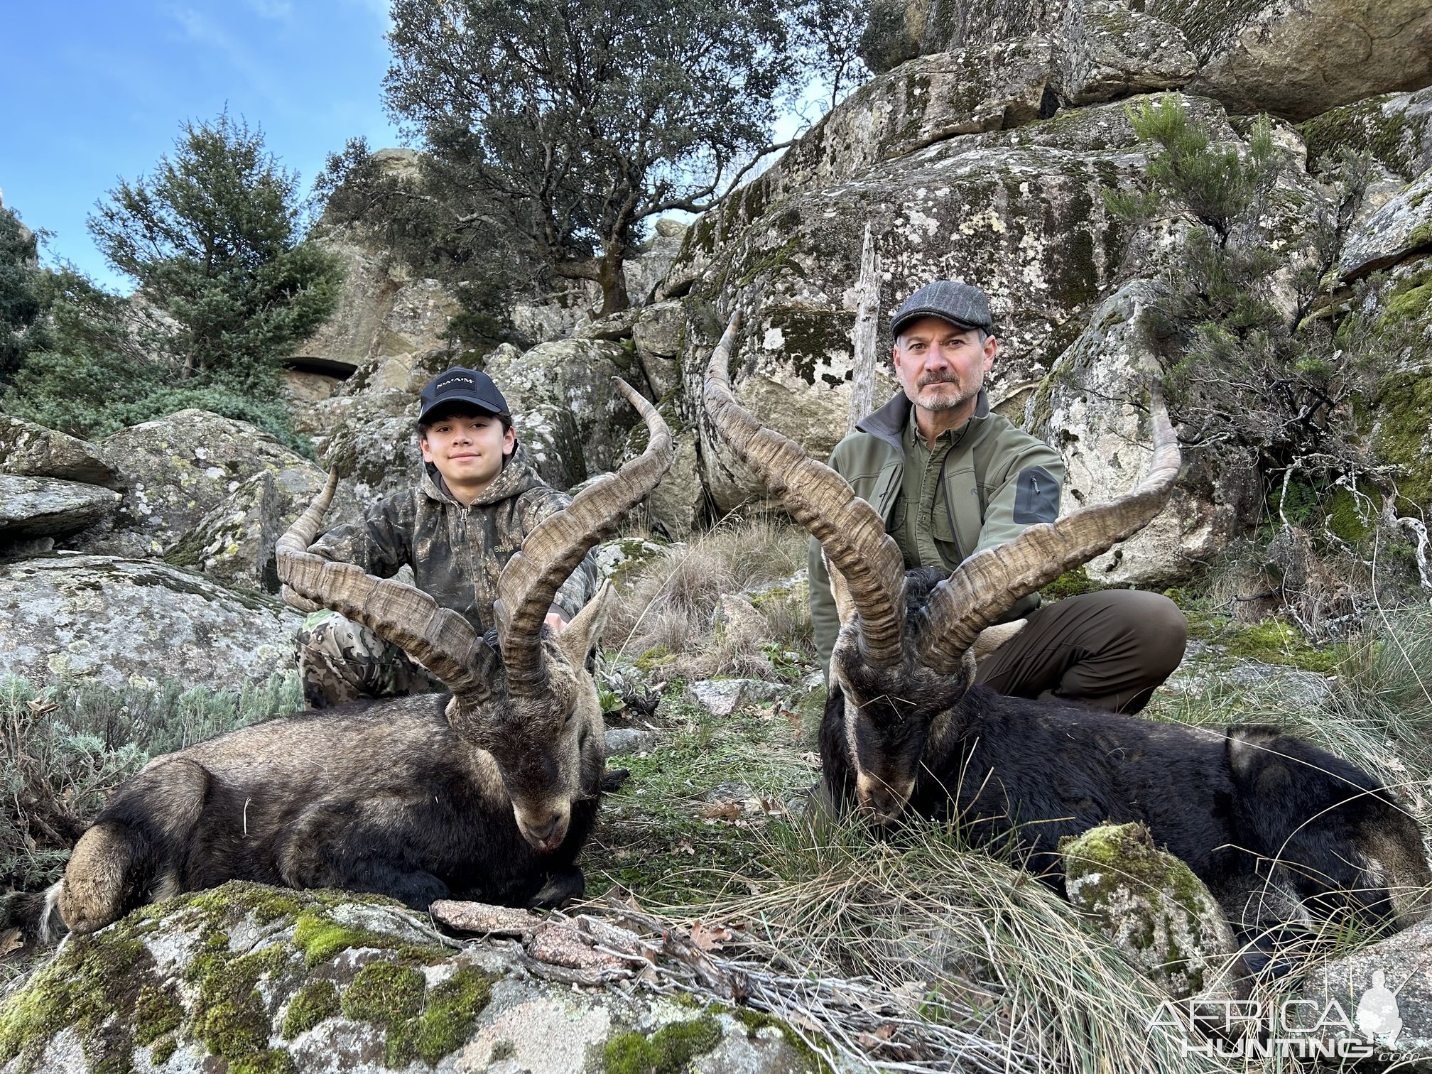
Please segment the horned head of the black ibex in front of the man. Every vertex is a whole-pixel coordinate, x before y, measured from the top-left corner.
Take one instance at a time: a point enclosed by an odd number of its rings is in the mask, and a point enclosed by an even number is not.
[[[1127,495],[1031,526],[1008,544],[969,557],[948,579],[918,571],[906,577],[875,508],[845,478],[736,402],[727,367],[737,326],[739,312],[712,352],[706,411],[720,438],[825,550],[842,624],[831,686],[845,695],[855,793],[863,809],[889,821],[909,800],[928,739],[951,727],[947,715],[969,689],[975,657],[1014,633],[991,624],[1021,597],[1107,551],[1160,511],[1179,474],[1173,427],[1156,392],[1154,457]]]

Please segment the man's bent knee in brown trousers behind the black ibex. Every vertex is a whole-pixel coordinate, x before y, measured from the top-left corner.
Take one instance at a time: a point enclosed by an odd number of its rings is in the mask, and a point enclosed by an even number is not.
[[[1011,697],[1138,712],[1183,660],[1189,623],[1169,597],[1111,589],[1030,613],[979,662],[975,684]]]

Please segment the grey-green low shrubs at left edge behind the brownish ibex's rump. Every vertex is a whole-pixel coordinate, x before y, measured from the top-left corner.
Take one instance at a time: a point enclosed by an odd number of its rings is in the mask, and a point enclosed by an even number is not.
[[[0,885],[59,879],[107,795],[150,758],[302,707],[294,673],[238,692],[0,676]]]

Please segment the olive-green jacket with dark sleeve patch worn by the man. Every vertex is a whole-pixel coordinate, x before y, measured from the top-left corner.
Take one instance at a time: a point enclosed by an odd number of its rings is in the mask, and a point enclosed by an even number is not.
[[[1004,544],[1034,523],[1060,513],[1064,461],[1060,453],[998,414],[979,392],[975,415],[925,445],[904,392],[856,424],[835,445],[829,465],[869,503],[899,546],[905,567],[951,571],[977,551]],[[914,465],[908,465],[908,460]],[[821,543],[811,540],[811,619],[826,680],[841,620]],[[1007,619],[1038,607],[1030,594]]]

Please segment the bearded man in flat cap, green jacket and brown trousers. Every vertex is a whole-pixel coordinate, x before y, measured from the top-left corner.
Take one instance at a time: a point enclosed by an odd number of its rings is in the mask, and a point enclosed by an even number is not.
[[[879,511],[909,567],[951,571],[1060,511],[1060,454],[990,412],[984,378],[998,342],[984,291],[952,279],[911,295],[891,322],[902,391],[836,444],[829,465]],[[811,541],[811,617],[831,674],[841,630],[821,543]],[[1138,712],[1183,659],[1189,626],[1157,593],[1104,590],[1005,619],[1024,629],[979,663],[975,683]]]

